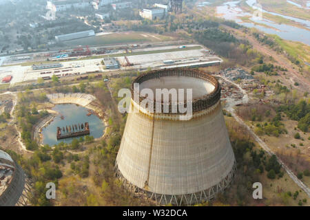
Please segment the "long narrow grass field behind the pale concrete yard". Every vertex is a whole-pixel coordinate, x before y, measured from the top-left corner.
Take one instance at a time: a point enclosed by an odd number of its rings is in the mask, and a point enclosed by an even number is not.
[[[66,41],[65,44],[69,46],[75,45],[112,45],[119,43],[145,43],[157,41],[172,41],[169,36],[160,34],[148,34],[144,32],[121,32],[106,34],[101,36],[91,36],[84,39],[76,39],[73,41]]]

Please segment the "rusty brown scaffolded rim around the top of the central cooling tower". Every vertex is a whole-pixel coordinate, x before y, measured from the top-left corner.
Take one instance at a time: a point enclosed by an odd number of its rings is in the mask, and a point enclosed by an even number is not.
[[[211,76],[210,74],[207,74],[207,73],[200,71],[198,69],[171,68],[171,69],[153,70],[153,71],[146,72],[146,73],[138,76],[133,81],[132,87],[131,87],[132,101],[136,102],[134,100],[134,84],[135,83],[141,84],[147,80],[150,80],[153,78],[161,78],[161,77],[165,77],[165,76],[187,76],[187,77],[191,77],[191,78],[199,78],[199,79],[207,81],[208,83],[211,83],[211,85],[214,85],[213,91],[211,91],[210,93],[208,93],[204,96],[201,96],[200,98],[194,98],[192,100],[192,111],[193,111],[193,113],[198,112],[198,111],[203,111],[205,109],[209,109],[209,107],[214,106],[220,100],[221,87],[220,87],[220,83],[218,83],[218,80],[214,76]],[[145,98],[139,96],[139,94],[138,94],[138,97],[139,97],[139,102],[141,102],[142,100],[145,100]],[[158,102],[156,102],[156,100],[152,100],[152,101],[154,101],[154,108],[155,108],[156,103],[158,103]],[[136,103],[136,104],[139,104],[139,103]],[[163,100],[161,100],[160,104],[161,104],[162,109],[163,109],[163,105],[164,105]],[[163,114],[172,114],[171,109],[172,109],[172,103],[169,102],[169,113],[163,113]],[[177,113],[177,114],[179,114],[179,113]]]

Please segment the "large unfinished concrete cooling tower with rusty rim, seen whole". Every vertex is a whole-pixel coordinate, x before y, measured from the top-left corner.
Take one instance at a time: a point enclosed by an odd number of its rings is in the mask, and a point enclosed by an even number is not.
[[[192,89],[192,118],[180,120],[172,102],[169,113],[139,106],[134,83],[140,91]],[[131,104],[138,112],[128,113],[115,166],[123,186],[158,205],[176,206],[208,201],[227,188],[236,166],[216,78],[194,69],[162,69],[134,83]]]

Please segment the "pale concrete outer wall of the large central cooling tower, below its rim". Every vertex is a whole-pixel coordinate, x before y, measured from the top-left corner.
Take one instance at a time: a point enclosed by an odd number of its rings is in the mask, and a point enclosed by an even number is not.
[[[153,138],[152,130],[152,118],[130,113],[116,159],[123,177],[139,188],[165,195],[199,192],[216,186],[234,166],[220,104],[190,122],[154,120]]]

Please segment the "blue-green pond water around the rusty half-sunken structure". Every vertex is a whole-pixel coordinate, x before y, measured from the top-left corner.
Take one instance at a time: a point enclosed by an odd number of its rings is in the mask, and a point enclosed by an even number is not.
[[[65,138],[61,140],[57,140],[56,138],[56,129],[57,126],[61,127],[61,129],[65,126],[69,126],[72,124],[85,124],[88,122],[90,125],[90,136],[94,138],[101,137],[103,135],[103,131],[105,129],[105,124],[103,120],[101,120],[97,115],[87,116],[87,108],[82,107],[77,104],[56,104],[56,106],[52,109],[58,112],[54,121],[51,122],[48,126],[42,129],[43,135],[43,144],[49,144],[53,146],[54,144],[59,144],[60,142],[71,143],[73,138]],[[61,119],[61,115],[63,115],[63,120]],[[79,137],[75,137],[79,138]]]

